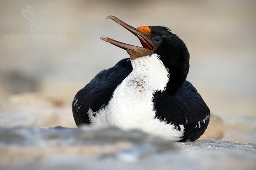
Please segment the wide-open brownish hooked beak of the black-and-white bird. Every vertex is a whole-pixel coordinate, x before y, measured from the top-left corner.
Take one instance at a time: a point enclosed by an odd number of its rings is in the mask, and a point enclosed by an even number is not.
[[[140,32],[137,28],[129,26],[128,24],[122,22],[121,20],[119,20],[118,18],[116,18],[112,15],[108,16],[106,19],[108,19],[108,18],[110,18],[111,20],[114,20],[116,23],[118,23],[119,25],[126,28],[132,34],[136,35],[136,37],[139,38],[143,47],[138,47],[138,46],[135,46],[135,45],[126,44],[126,43],[123,43],[123,42],[113,40],[113,39],[108,38],[108,37],[100,37],[100,39],[102,39],[106,42],[110,42],[111,44],[116,45],[119,48],[125,49],[128,52],[128,54],[131,56],[132,60],[136,59],[138,57],[147,56],[147,55],[150,55],[150,54],[153,53],[153,51],[155,49],[155,45],[149,37],[147,37],[142,32]]]

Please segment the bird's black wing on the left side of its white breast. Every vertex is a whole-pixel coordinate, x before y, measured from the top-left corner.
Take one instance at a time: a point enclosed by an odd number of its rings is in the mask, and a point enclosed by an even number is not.
[[[75,96],[72,104],[76,125],[90,124],[87,112],[89,108],[99,111],[108,104],[113,91],[132,71],[130,59],[122,59],[114,67],[99,72]]]

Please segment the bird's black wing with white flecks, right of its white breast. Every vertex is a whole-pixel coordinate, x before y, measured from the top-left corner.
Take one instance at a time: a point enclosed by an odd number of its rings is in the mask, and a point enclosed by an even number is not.
[[[210,110],[195,87],[186,81],[175,96],[161,96],[161,93],[154,95],[155,118],[175,125],[177,130],[180,130],[179,125],[184,125],[180,141],[198,139],[209,124]]]

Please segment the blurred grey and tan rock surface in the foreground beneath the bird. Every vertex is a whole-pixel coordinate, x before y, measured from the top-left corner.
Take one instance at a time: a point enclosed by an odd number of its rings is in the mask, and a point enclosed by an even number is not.
[[[0,169],[130,170],[256,167],[256,144],[220,139],[171,143],[115,127],[0,127]]]

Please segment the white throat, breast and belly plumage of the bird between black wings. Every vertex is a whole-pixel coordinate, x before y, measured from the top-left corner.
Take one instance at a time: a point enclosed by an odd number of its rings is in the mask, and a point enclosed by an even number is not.
[[[169,72],[156,54],[131,60],[133,71],[113,92],[108,105],[93,116],[88,111],[91,125],[109,124],[122,129],[139,128],[147,133],[178,141],[184,127],[154,119],[152,102],[155,91],[163,91],[169,81]]]

